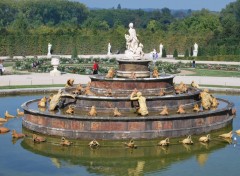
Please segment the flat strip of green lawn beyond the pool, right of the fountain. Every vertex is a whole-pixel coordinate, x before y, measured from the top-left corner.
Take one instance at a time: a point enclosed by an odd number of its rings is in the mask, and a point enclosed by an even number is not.
[[[186,76],[240,77],[240,72],[238,71],[188,69],[188,68],[184,68],[183,70],[194,72],[193,74],[188,74]]]

